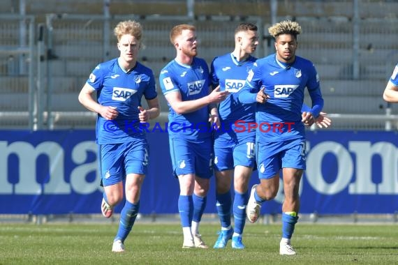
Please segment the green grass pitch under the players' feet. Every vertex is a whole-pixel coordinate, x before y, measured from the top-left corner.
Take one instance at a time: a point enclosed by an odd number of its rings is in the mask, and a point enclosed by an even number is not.
[[[202,223],[208,250],[182,249],[177,224],[136,223],[124,253],[112,253],[117,224],[0,223],[0,264],[395,264],[397,225],[296,225],[296,256],[280,256],[281,225],[246,224],[244,250],[214,250],[219,225]]]

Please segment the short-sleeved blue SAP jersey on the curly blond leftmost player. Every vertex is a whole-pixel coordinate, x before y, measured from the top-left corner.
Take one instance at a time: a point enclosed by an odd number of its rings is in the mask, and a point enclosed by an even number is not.
[[[156,82],[152,70],[137,62],[126,73],[118,59],[100,63],[89,76],[87,84],[96,90],[97,101],[103,106],[116,107],[119,115],[108,121],[98,114],[96,141],[98,144],[117,144],[131,141],[131,137],[144,139],[138,114],[141,98],[156,98]]]

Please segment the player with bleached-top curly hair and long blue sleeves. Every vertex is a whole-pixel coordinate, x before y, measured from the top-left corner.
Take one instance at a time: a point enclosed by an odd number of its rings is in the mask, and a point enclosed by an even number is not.
[[[253,185],[246,215],[256,222],[261,204],[273,199],[283,174],[285,199],[282,205],[280,255],[295,255],[290,243],[300,210],[299,185],[305,169],[306,123],[312,123],[323,108],[323,98],[316,69],[311,61],[295,55],[301,27],[286,20],[272,25],[275,54],[258,59],[250,71],[242,103],[256,105],[256,159],[260,183]],[[312,107],[302,112],[307,87]]]

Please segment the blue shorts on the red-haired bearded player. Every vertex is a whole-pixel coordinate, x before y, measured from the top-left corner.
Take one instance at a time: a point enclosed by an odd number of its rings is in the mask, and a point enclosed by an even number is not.
[[[202,179],[212,176],[212,139],[170,138],[170,157],[175,176],[196,174]]]

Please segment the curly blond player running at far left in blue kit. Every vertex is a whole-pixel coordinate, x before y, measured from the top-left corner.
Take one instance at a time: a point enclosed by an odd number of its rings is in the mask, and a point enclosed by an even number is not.
[[[98,113],[96,143],[104,188],[103,215],[110,218],[114,207],[126,196],[112,244],[112,252],[123,252],[140,209],[140,191],[148,167],[149,146],[140,122],[156,118],[160,109],[152,70],[137,61],[141,24],[119,22],[114,33],[120,56],[94,68],[80,91],[79,101]],[[92,98],[94,92],[96,100]],[[142,96],[148,109],[141,105]]]

